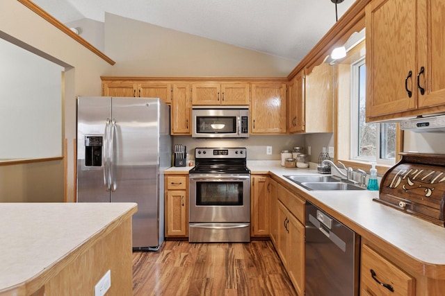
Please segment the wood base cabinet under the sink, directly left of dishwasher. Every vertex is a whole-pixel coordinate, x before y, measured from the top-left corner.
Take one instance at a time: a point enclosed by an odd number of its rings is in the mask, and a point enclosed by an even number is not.
[[[305,295],[305,200],[282,185],[278,193],[277,249],[298,295]]]

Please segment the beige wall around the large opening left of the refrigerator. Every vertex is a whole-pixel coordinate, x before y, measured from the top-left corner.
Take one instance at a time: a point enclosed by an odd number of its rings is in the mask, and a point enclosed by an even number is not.
[[[111,73],[111,65],[16,0],[0,1],[0,31],[72,66],[65,72],[64,137],[68,143],[68,200],[73,200],[76,96],[100,95],[99,76]],[[63,199],[63,161],[0,166],[0,201]]]

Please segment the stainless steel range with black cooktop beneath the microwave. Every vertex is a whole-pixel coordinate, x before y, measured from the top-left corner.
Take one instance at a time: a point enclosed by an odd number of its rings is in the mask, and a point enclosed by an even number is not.
[[[195,168],[189,179],[188,241],[250,241],[246,148],[195,148]]]

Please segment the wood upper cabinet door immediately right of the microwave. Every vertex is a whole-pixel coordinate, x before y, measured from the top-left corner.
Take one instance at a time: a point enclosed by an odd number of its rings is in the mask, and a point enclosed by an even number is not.
[[[286,133],[285,83],[252,83],[252,100],[250,102],[250,133]]]

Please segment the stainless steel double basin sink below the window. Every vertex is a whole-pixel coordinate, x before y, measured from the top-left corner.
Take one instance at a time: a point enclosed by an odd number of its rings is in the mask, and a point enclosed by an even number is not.
[[[343,182],[339,177],[330,175],[284,175],[284,177],[307,190],[366,190],[364,187]]]

